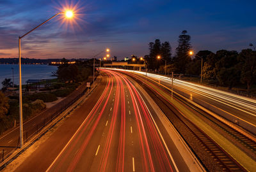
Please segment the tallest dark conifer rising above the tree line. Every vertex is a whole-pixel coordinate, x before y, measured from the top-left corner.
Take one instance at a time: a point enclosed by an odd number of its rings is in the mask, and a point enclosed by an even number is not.
[[[180,34],[179,36],[179,45],[176,48],[175,55],[175,66],[177,69],[177,73],[185,74],[186,65],[191,60],[191,57],[188,54],[189,50],[191,50],[192,48],[190,43],[191,36],[189,36],[187,33],[187,31],[182,31],[182,34]]]

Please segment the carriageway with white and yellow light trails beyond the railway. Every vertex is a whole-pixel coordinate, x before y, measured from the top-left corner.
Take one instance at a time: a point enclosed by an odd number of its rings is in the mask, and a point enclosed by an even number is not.
[[[120,69],[120,71],[125,71]],[[128,71],[128,70],[127,70]],[[145,72],[128,71],[145,76]],[[166,87],[172,87],[170,77],[147,73],[147,77],[161,82]],[[191,99],[195,103],[221,115],[222,117],[245,127],[252,133],[256,133],[256,100],[250,97],[239,96],[230,92],[205,87],[204,85],[185,82],[175,78],[173,91]],[[249,126],[249,127],[248,127]]]

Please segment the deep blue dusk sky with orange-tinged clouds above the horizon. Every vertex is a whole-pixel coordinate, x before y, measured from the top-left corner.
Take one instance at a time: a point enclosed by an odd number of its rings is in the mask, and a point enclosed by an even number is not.
[[[66,4],[77,6],[76,24],[55,17],[22,38],[22,57],[92,58],[108,47],[111,56],[123,59],[148,54],[155,39],[169,41],[174,55],[183,30],[196,52],[256,44],[256,1],[0,0],[0,58],[18,57],[18,36]]]

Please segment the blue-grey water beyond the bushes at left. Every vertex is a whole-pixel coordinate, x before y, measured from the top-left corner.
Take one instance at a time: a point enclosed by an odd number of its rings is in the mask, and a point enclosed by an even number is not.
[[[12,68],[14,84],[19,85],[19,65],[17,64],[0,64],[0,89],[4,78],[12,79]],[[56,78],[51,76],[52,72],[56,72],[57,66],[22,64],[21,75],[22,84],[26,84],[27,80],[42,80]]]

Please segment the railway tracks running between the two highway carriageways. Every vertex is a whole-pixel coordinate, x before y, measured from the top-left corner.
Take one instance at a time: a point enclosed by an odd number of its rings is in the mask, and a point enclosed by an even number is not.
[[[180,135],[184,138],[183,134],[186,132],[186,135],[187,135],[186,137],[190,137],[190,140],[191,140],[191,138],[193,138],[192,140],[197,142],[197,145],[200,145],[201,150],[204,150],[205,152],[207,152],[206,154],[209,157],[211,157],[211,159],[213,159],[213,161],[214,161],[212,163],[219,166],[221,171],[246,171],[246,169],[244,169],[243,166],[241,166],[241,164],[239,164],[239,162],[237,162],[227,152],[225,152],[225,150],[223,150],[223,148],[221,148],[218,145],[218,143],[216,143],[209,136],[207,136],[207,134],[204,133],[204,131],[202,131],[199,127],[197,127],[193,122],[191,122],[191,120],[189,120],[184,115],[182,115],[182,113],[179,110],[177,110],[172,105],[172,103],[170,103],[168,100],[166,100],[161,94],[159,94],[158,92],[156,92],[153,89],[150,89],[148,87],[147,83],[145,83],[145,82],[143,83],[143,81],[140,80],[138,78],[138,76],[137,77],[134,77],[133,75],[129,75],[129,76],[131,76],[134,80],[136,80],[136,82],[141,83],[141,85],[143,86],[143,89],[145,89],[148,92],[148,94],[150,94],[152,99],[154,99],[154,101],[156,101],[159,108],[161,108],[161,110],[164,112],[164,114],[166,114],[166,116],[168,117],[170,122],[172,122],[172,124],[179,131]],[[180,100],[180,97],[175,96],[175,98]],[[191,105],[189,105],[189,106],[191,106]],[[211,120],[213,121],[214,119],[211,119]],[[228,133],[236,136],[237,140],[243,141],[243,143],[245,145],[248,145],[248,147],[250,147],[252,149],[255,148],[253,145],[254,144],[253,141],[248,140],[248,138],[243,136],[243,134],[228,127],[228,125],[221,124],[220,121],[217,122],[215,120],[214,122],[216,122],[216,124],[218,124],[218,125],[221,125],[221,127],[223,127],[223,129],[225,129]],[[179,127],[177,127],[178,124],[179,124]],[[182,129],[181,132],[180,132],[180,129]],[[184,138],[184,140],[186,140],[186,137]],[[190,147],[191,147],[191,144],[193,144],[193,143],[188,143],[188,145]],[[191,147],[191,149],[193,150],[193,152],[195,152],[195,154],[198,153],[192,147]],[[199,157],[199,159],[200,159],[200,157]],[[200,161],[204,164],[205,168],[207,168],[208,165],[205,164],[204,159],[200,159]],[[207,168],[207,170],[211,171],[211,169],[208,169],[208,168]]]

